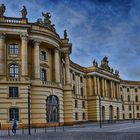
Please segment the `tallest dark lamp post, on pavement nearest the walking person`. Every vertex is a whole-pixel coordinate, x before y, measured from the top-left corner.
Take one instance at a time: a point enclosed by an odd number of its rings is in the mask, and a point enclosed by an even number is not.
[[[28,134],[31,135],[31,122],[30,122],[30,87],[28,87]]]

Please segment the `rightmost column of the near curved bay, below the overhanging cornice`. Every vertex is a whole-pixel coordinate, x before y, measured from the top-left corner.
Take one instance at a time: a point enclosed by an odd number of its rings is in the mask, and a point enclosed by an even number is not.
[[[65,54],[65,71],[66,71],[66,84],[70,84],[70,64],[69,64],[69,54]]]

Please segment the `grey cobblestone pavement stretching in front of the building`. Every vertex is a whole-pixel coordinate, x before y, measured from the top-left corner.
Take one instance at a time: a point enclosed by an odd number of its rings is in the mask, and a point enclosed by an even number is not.
[[[116,124],[89,123],[65,127],[34,128],[31,135],[28,130],[0,130],[0,140],[140,140],[140,121]]]

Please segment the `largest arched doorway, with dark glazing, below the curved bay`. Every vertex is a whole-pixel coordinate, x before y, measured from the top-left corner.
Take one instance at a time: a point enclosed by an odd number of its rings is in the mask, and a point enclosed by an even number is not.
[[[50,95],[46,99],[46,120],[47,122],[59,121],[59,102],[58,97]]]

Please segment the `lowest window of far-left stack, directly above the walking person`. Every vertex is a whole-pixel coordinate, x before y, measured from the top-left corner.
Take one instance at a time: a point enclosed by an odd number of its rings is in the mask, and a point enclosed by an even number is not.
[[[9,109],[9,120],[17,120],[19,121],[19,109],[18,108],[10,108]]]

